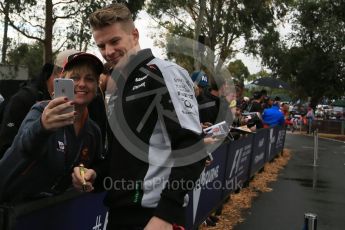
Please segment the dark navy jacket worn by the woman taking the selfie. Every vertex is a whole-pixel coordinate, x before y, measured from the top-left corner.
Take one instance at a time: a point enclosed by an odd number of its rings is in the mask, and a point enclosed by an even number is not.
[[[101,159],[101,132],[87,119],[78,136],[72,125],[46,131],[41,114],[47,102],[35,104],[13,144],[0,160],[0,203],[20,201],[40,192],[62,192],[71,185],[74,166]]]

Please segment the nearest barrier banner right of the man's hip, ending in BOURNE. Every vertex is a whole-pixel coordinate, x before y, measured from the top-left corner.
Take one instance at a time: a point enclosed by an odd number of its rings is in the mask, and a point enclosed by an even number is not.
[[[212,153],[211,165],[201,173],[196,188],[188,194],[187,229],[201,224],[209,212],[221,203],[227,152],[228,145],[222,144]]]

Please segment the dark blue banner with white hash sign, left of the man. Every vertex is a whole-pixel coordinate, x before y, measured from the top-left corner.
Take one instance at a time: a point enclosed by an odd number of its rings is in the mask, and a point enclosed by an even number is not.
[[[103,206],[103,198],[103,193],[85,194],[23,216],[10,218],[16,218],[16,230],[105,230],[107,209]]]

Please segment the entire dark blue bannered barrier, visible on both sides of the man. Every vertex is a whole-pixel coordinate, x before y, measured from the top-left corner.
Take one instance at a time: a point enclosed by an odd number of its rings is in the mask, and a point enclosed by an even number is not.
[[[223,143],[213,162],[200,175],[189,195],[186,229],[196,229],[217,209],[230,193],[242,188],[266,162],[283,151],[286,129],[276,126],[258,130],[236,141]],[[63,195],[28,203],[0,205],[0,229],[3,230],[105,230],[107,210],[104,193]]]

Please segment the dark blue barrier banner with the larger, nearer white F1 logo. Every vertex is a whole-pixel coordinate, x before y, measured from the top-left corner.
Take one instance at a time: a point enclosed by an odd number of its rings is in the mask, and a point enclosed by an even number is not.
[[[250,134],[245,138],[229,143],[223,198],[231,191],[242,188],[249,179],[253,137],[254,135]]]

